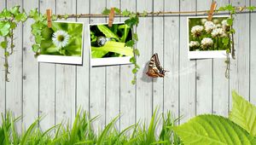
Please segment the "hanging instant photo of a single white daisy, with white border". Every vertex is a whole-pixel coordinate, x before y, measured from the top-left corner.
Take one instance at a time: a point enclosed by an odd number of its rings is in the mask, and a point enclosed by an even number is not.
[[[83,23],[52,22],[41,34],[38,61],[82,64],[83,32]]]

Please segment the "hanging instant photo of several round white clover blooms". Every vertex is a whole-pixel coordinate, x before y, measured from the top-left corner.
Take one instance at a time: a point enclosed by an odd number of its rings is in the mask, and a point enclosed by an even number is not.
[[[230,49],[230,16],[188,18],[189,59],[225,58]]]

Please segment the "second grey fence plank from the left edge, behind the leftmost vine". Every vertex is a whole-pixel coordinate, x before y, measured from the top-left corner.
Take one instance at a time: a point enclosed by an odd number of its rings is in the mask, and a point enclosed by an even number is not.
[[[7,8],[12,8],[15,5],[20,5],[22,2],[9,0]],[[6,84],[6,108],[14,113],[16,117],[22,115],[22,24],[16,27],[14,31],[15,51],[9,56],[9,82]],[[21,121],[17,122],[17,131],[21,132]]]

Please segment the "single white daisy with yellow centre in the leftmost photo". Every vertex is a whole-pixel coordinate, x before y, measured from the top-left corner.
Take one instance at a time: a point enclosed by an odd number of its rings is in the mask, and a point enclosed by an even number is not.
[[[57,48],[61,49],[67,46],[69,38],[70,36],[67,32],[59,30],[53,34],[52,41]]]

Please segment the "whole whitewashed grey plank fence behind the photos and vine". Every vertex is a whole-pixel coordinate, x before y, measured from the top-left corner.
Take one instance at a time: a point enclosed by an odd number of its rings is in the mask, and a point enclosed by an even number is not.
[[[209,9],[212,0],[0,0],[0,9],[19,4],[29,11],[38,8],[42,13],[52,9],[55,14],[99,14],[105,7],[132,11],[189,11]],[[218,0],[218,7],[228,3],[256,5],[251,0]],[[196,14],[191,14],[196,15]],[[132,85],[132,65],[90,67],[88,25],[107,22],[108,18],[79,18],[69,21],[84,22],[84,65],[38,63],[33,57],[31,44],[32,20],[19,24],[15,30],[15,54],[9,58],[10,82],[4,82],[3,58],[0,71],[0,112],[12,111],[22,115],[27,127],[40,115],[46,115],[42,129],[56,125],[62,119],[73,121],[79,107],[100,115],[94,126],[97,129],[113,119],[121,118],[117,127],[122,130],[137,121],[149,119],[156,107],[159,113],[172,111],[183,115],[180,123],[200,113],[227,116],[231,107],[230,91],[237,90],[247,100],[256,103],[256,14],[237,14],[235,19],[236,60],[231,61],[230,79],[224,77],[224,59],[189,61],[187,54],[187,16],[172,15],[140,18],[137,34],[141,56],[137,62],[142,67],[137,73],[137,84]],[[125,18],[115,18],[115,22]],[[1,49],[3,55],[3,49]],[[148,78],[147,63],[154,53],[161,64],[170,71],[166,78]],[[21,122],[19,125],[21,130]]]

